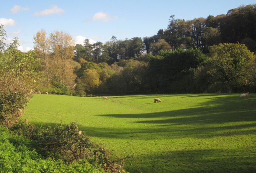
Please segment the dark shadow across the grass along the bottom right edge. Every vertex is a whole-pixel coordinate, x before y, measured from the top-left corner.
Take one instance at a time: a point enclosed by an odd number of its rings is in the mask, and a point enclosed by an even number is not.
[[[144,159],[149,164],[147,167],[140,165],[142,172],[159,172],[161,170],[164,173],[252,173],[256,171],[255,151],[248,147],[236,150],[196,149],[168,151],[144,155]],[[135,168],[129,171],[138,172]]]

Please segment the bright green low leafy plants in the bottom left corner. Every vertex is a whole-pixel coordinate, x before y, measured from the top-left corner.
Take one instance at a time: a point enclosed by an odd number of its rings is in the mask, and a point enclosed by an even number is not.
[[[86,159],[65,163],[61,159],[44,159],[35,149],[28,147],[30,140],[24,136],[10,134],[0,126],[0,172],[78,172],[104,173],[99,166]]]

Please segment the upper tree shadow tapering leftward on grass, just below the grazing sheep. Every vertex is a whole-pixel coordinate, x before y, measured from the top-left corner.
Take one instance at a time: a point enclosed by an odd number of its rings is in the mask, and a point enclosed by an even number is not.
[[[214,97],[198,107],[153,112],[146,114],[107,114],[99,115],[113,118],[170,118],[165,120],[136,121],[138,123],[158,124],[214,124],[220,122],[239,122],[256,120],[256,98],[237,98],[236,96]],[[148,103],[150,104],[150,103]]]

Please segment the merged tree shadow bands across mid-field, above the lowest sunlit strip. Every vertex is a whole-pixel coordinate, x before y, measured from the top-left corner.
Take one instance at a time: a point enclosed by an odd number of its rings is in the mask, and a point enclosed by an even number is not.
[[[147,114],[99,115],[110,118],[132,118],[134,123],[141,124],[139,128],[126,128],[126,124],[113,128],[83,126],[81,128],[89,136],[132,137],[139,140],[185,138],[188,136],[212,138],[214,136],[248,135],[256,133],[255,112],[256,97],[220,96],[214,97],[196,108]],[[149,125],[147,126],[147,124]]]

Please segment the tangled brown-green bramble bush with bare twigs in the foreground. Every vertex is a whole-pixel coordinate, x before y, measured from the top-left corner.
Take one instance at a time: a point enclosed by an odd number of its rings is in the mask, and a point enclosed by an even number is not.
[[[80,159],[86,159],[93,165],[101,165],[108,171],[124,172],[121,164],[116,165],[109,151],[90,141],[86,135],[78,130],[76,123],[69,126],[56,125],[42,128],[33,137],[34,146],[38,153],[44,157],[61,159],[66,163],[72,163]]]

